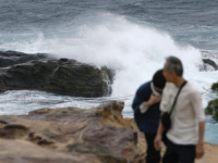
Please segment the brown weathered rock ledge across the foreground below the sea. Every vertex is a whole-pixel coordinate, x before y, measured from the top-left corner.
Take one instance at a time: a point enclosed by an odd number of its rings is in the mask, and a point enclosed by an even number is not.
[[[110,101],[89,110],[2,115],[0,163],[145,163],[144,135],[133,118],[123,118],[123,108]],[[217,163],[218,146],[205,143],[205,150],[196,163]]]

